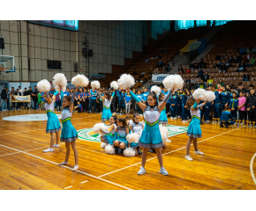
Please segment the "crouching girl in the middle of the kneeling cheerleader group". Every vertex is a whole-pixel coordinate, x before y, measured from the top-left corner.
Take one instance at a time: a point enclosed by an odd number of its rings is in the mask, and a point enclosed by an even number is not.
[[[129,128],[124,118],[117,119],[117,128],[115,133],[115,146],[118,147],[117,153],[122,153],[122,149],[128,147],[126,135],[129,134]]]

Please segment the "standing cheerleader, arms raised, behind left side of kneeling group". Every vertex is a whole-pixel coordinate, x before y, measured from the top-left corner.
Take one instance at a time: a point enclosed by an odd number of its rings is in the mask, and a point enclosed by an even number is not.
[[[110,105],[112,99],[114,98],[115,91],[113,91],[112,96],[110,95],[109,91],[106,91],[103,96],[99,91],[97,91],[97,94],[100,98],[102,98],[103,101],[102,122],[105,123],[105,121],[109,120],[112,116]]]

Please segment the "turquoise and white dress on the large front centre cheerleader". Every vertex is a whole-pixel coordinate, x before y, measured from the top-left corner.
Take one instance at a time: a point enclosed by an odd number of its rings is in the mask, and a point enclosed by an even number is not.
[[[163,146],[159,129],[160,112],[157,106],[147,106],[144,112],[145,127],[139,140],[143,148],[158,149]]]

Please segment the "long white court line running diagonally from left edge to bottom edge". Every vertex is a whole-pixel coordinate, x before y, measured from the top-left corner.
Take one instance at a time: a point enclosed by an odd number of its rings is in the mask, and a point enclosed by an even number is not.
[[[21,150],[19,150],[19,149],[13,149],[13,148],[4,146],[3,144],[0,144],[0,146],[1,146],[1,147],[4,147],[4,148],[7,148],[7,149],[12,149],[12,150],[15,150],[15,151],[19,151],[20,153],[24,153],[24,154],[26,154],[26,155],[28,155],[28,156],[34,156],[34,155],[29,154],[29,153],[27,153],[27,152],[25,152],[25,151],[21,151]],[[51,164],[56,164],[55,162],[50,161],[50,160],[47,160],[47,159],[42,158],[42,157],[40,157],[40,156],[34,156],[34,157],[35,157],[35,158],[38,158],[38,159],[41,159],[41,160],[43,160],[43,161],[49,162],[49,163],[51,163]],[[58,164],[56,164],[56,165],[58,165]],[[71,167],[68,167],[68,166],[66,166],[66,165],[58,165],[58,166],[64,167],[64,168],[69,169],[69,170],[72,170]],[[109,181],[109,180],[107,180],[107,179],[99,178],[99,177],[96,177],[96,176],[94,176],[94,175],[92,175],[92,174],[88,174],[88,173],[83,172],[83,171],[77,171],[77,172],[79,172],[79,173],[81,173],[81,174],[84,174],[84,175],[87,175],[88,177],[96,178],[96,179],[102,180],[102,181],[104,181],[104,182],[106,182],[106,183],[109,183],[109,184],[112,184],[112,185],[115,185],[115,186],[122,187],[122,188],[127,189],[127,190],[132,190],[132,189],[129,188],[129,187],[121,186],[121,185],[119,185],[119,184],[117,184],[117,183],[114,183],[114,182],[111,182],[111,181]]]

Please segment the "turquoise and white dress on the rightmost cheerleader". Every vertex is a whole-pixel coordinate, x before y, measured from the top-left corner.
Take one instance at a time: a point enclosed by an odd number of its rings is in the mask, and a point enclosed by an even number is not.
[[[195,105],[197,106],[197,104],[195,104]],[[197,106],[197,107],[200,108],[201,106],[204,106],[204,105],[200,104],[200,106]],[[202,131],[201,131],[201,127],[200,127],[200,109],[195,109],[193,111],[192,111],[192,109],[190,109],[190,112],[192,115],[192,121],[190,122],[190,124],[188,126],[186,135],[188,135],[189,137],[192,137],[192,138],[201,138]]]

